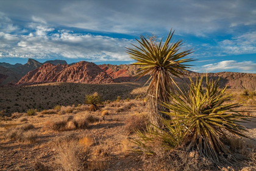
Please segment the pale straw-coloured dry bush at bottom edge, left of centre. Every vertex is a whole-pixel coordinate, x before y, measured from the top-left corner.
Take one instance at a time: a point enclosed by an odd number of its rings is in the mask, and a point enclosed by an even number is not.
[[[58,144],[56,162],[63,170],[87,170],[87,160],[90,149],[75,140],[65,141]]]

